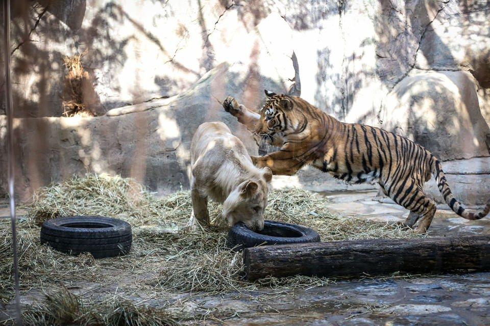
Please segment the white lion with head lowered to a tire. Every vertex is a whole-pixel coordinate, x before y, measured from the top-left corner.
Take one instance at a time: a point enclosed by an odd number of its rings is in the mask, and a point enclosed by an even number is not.
[[[256,168],[243,143],[222,122],[205,122],[192,138],[191,179],[193,216],[209,225],[208,198],[223,204],[223,217],[231,227],[245,223],[252,230],[264,227],[269,168]]]

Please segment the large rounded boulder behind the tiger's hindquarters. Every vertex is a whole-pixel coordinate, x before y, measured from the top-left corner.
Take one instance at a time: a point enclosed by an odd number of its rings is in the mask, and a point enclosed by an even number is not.
[[[440,160],[489,156],[490,129],[468,72],[413,70],[388,94],[379,117],[384,129]]]

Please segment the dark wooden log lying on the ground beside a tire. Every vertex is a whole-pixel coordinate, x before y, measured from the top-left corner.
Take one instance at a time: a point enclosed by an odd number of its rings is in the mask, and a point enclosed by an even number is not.
[[[490,270],[490,236],[372,239],[263,246],[243,250],[249,280],[293,275],[356,277]]]

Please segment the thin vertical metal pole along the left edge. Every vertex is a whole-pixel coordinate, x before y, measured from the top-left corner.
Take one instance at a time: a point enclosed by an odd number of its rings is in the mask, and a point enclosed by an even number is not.
[[[10,223],[12,225],[12,251],[14,256],[15,323],[20,325],[19,262],[17,256],[17,230],[14,199],[14,130],[12,110],[12,88],[10,81],[10,0],[4,0],[4,59],[5,59],[5,107],[7,111],[7,143],[9,157]]]

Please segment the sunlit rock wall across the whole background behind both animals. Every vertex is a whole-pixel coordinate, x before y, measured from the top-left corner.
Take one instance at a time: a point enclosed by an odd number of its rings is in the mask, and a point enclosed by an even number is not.
[[[11,45],[23,199],[52,179],[85,171],[133,176],[160,192],[186,187],[188,142],[200,123],[225,121],[256,150],[218,102],[230,94],[258,107],[263,88],[301,95],[342,121],[403,134],[448,162],[489,156],[490,5],[484,2],[26,4],[27,16],[14,7]],[[60,118],[62,58],[81,52],[102,116]],[[0,121],[3,142],[1,128]],[[162,128],[173,136],[161,136]],[[5,190],[5,155],[0,164]],[[474,170],[464,174],[482,175]],[[308,169],[275,180],[351,188]],[[480,205],[478,189],[461,192],[462,201]]]

